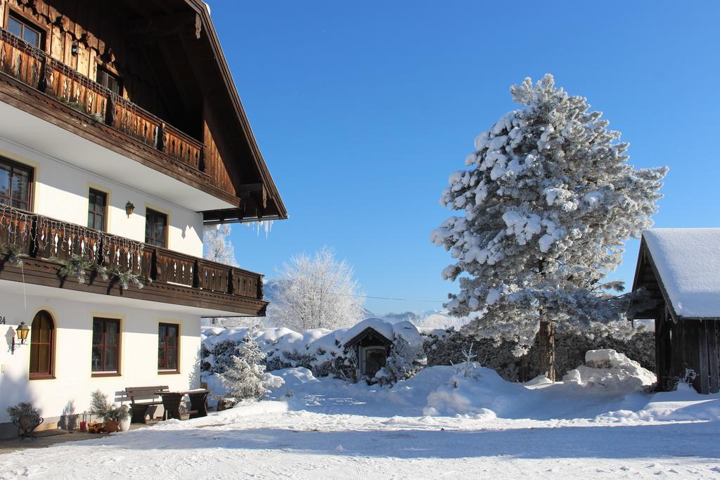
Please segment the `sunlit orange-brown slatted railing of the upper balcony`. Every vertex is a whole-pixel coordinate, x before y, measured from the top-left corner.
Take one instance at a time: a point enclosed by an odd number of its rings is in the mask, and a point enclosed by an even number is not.
[[[200,168],[201,142],[3,29],[0,72],[186,166]]]

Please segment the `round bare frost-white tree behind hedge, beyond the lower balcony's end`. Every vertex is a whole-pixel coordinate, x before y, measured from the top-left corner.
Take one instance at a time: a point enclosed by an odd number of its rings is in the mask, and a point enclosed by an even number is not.
[[[346,261],[323,247],[310,258],[303,253],[283,265],[274,280],[268,317],[278,326],[302,332],[312,328],[355,325],[364,315],[364,298]]]

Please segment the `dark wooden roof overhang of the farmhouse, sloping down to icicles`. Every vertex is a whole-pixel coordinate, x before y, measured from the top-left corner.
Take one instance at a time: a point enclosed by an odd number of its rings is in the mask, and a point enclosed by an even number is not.
[[[261,154],[235,87],[228,62],[200,0],[122,0],[132,12],[133,36],[149,58],[158,60],[157,76],[168,73],[177,87],[171,103],[201,112],[204,101],[217,109],[216,128],[223,160],[231,173],[238,206],[203,212],[206,225],[287,219],[287,208]],[[172,96],[174,95],[174,96]]]

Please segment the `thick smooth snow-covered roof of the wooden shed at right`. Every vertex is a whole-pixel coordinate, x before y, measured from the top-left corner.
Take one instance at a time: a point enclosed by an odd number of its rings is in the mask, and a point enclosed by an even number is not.
[[[653,228],[642,237],[678,317],[720,317],[720,228]]]

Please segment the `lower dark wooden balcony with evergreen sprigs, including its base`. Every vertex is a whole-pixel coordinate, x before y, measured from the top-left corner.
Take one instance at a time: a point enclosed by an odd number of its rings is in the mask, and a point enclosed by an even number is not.
[[[60,272],[79,261],[84,284]],[[127,273],[143,288],[123,288]],[[253,316],[267,304],[259,273],[1,205],[0,280]]]

